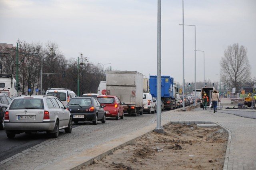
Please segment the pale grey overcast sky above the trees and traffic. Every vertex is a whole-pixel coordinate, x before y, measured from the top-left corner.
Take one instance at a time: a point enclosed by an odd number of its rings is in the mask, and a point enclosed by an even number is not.
[[[158,0],[0,0],[0,43],[55,42],[66,58],[80,53],[112,70],[157,74]],[[162,0],[162,75],[182,84],[182,0]],[[220,59],[247,48],[256,76],[256,0],[184,0],[184,24],[196,25],[206,81],[219,81]],[[184,26],[185,82],[194,82],[194,27]],[[203,81],[196,52],[196,81]],[[105,65],[104,68],[110,65]]]

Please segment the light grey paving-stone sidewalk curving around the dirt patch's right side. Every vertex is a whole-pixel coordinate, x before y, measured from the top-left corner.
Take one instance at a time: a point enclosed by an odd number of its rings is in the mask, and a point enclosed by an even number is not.
[[[242,117],[242,116],[246,116]],[[248,118],[248,117],[252,118]],[[216,122],[231,132],[227,170],[256,170],[256,112],[202,110],[164,112],[162,120]]]

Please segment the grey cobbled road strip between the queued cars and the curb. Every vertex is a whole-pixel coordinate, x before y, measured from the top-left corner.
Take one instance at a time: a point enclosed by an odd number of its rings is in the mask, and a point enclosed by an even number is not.
[[[106,123],[80,123],[81,126],[72,129],[72,133],[66,134],[60,131],[57,139],[48,139],[32,148],[28,148],[11,158],[0,162],[1,170],[28,170],[47,169],[47,166],[59,162],[64,158],[79,154],[83,150],[93,148],[114,138],[124,136],[130,132],[136,132],[140,128],[153,124],[156,114],[143,114],[130,116],[125,114],[123,120],[107,118]],[[25,135],[25,134],[24,134]],[[35,135],[35,134],[31,134]],[[8,139],[8,142],[20,140]],[[2,149],[1,149],[2,150]]]

